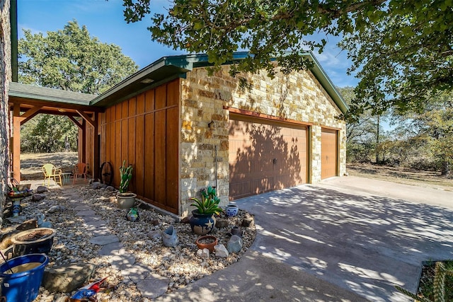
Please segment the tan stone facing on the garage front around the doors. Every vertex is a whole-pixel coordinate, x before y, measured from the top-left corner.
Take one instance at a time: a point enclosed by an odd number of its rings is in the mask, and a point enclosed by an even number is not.
[[[340,110],[310,71],[289,75],[265,73],[243,76],[249,87],[239,87],[239,77],[229,76],[229,66],[212,76],[197,68],[182,79],[181,95],[181,194],[184,214],[189,197],[207,185],[215,185],[214,153],[217,146],[217,192],[222,206],[229,197],[229,111],[224,106],[250,110],[311,124],[311,182],[321,180],[321,128],[339,129],[339,175],[345,173],[345,122]],[[215,129],[208,123],[215,122]]]

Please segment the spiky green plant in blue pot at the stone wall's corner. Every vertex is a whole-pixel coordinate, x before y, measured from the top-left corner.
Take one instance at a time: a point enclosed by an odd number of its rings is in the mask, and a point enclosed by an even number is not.
[[[190,228],[195,234],[206,235],[210,233],[215,226],[215,214],[222,212],[219,207],[220,199],[217,197],[215,189],[213,187],[207,187],[201,192],[201,200],[196,197],[190,198],[193,201],[190,204],[193,207],[197,207],[192,211],[192,217],[190,218]]]

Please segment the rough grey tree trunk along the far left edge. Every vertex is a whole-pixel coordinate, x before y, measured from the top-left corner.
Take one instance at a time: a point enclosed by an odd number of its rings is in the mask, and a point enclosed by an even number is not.
[[[11,25],[9,21],[9,0],[0,0],[0,211],[5,199],[9,173],[9,115],[8,87],[11,81]],[[0,229],[1,229],[0,217]]]

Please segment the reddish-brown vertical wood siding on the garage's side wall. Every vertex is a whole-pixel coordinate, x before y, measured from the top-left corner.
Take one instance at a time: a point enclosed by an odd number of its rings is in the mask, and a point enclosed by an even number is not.
[[[115,187],[122,161],[134,172],[129,190],[178,214],[179,79],[105,110],[101,117],[101,163],[110,161]]]

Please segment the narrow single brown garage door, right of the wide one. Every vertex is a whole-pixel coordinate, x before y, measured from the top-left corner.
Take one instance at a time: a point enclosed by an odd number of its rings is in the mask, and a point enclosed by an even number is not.
[[[321,179],[337,175],[338,142],[337,130],[322,129],[321,132]]]

